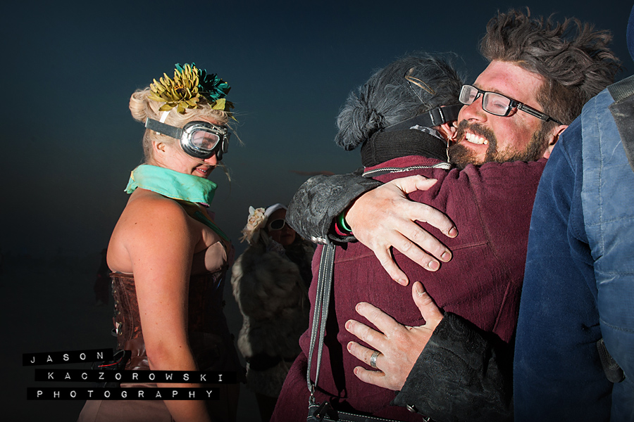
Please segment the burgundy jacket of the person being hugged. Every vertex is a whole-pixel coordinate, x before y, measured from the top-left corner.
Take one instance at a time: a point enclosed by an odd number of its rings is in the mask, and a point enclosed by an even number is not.
[[[414,174],[438,179],[428,191],[416,191],[409,197],[445,212],[459,231],[456,238],[447,238],[428,224],[421,224],[452,250],[453,259],[442,263],[438,271],[426,271],[397,250],[394,260],[410,281],[423,283],[440,308],[509,342],[517,322],[533,200],[546,160],[469,165],[462,171],[430,168],[437,163],[429,158],[408,156],[366,168],[366,172],[393,169],[374,177],[384,182]],[[318,248],[313,259],[311,315],[320,252]],[[400,286],[392,281],[374,253],[361,243],[337,247],[334,279],[316,394],[318,402],[329,400],[340,411],[421,421],[420,415],[390,405],[395,392],[363,383],[354,376],[355,366],[371,368],[347,352],[347,343],[359,340],[344,327],[349,319],[373,327],[355,312],[359,302],[370,302],[401,324],[424,324],[411,298],[411,285]],[[311,328],[299,340],[303,353],[288,373],[271,421],[306,420],[309,398],[306,361]],[[314,363],[311,372],[314,380]]]

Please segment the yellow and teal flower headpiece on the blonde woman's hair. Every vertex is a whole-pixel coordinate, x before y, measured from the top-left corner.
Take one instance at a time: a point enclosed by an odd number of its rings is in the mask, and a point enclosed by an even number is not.
[[[194,63],[175,65],[174,79],[163,73],[163,77],[150,84],[149,99],[165,103],[159,111],[169,111],[176,108],[178,113],[185,113],[186,108],[198,108],[198,103],[204,99],[213,110],[229,112],[233,104],[225,96],[231,87],[215,73],[208,74],[199,69]]]

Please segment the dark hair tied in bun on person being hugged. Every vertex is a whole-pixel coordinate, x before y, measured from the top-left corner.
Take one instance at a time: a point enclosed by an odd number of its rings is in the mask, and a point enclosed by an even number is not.
[[[375,72],[349,94],[337,116],[335,143],[350,151],[385,127],[439,106],[459,103],[463,82],[454,69],[454,57],[415,53]],[[406,75],[423,84],[408,82]]]

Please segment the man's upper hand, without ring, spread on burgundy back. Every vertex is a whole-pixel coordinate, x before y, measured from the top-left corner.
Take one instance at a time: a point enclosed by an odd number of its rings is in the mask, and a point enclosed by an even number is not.
[[[452,252],[415,221],[427,222],[449,237],[458,234],[454,223],[435,208],[406,198],[407,193],[426,191],[435,183],[436,179],[422,176],[394,179],[357,198],[346,214],[354,236],[374,252],[387,274],[403,286],[409,281],[392,259],[391,247],[429,271],[440,268],[435,258],[442,262],[452,259]]]

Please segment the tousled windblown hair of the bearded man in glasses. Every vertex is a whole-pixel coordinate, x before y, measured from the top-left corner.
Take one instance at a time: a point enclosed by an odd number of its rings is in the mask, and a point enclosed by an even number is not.
[[[537,102],[544,113],[570,124],[621,68],[608,47],[611,39],[609,31],[595,31],[576,18],[557,24],[552,16],[531,18],[527,8],[526,14],[498,12],[487,24],[480,51],[487,60],[511,62],[542,75],[545,84]]]

